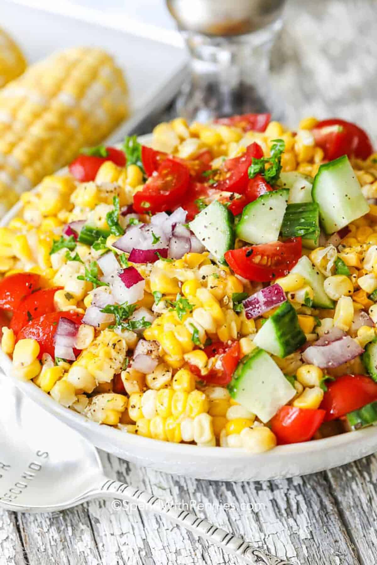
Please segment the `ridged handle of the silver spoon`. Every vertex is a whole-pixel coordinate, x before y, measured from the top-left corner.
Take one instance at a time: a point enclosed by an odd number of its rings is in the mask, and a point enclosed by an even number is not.
[[[290,561],[285,561],[284,559],[280,559],[279,557],[275,557],[274,555],[270,555],[249,545],[248,542],[244,541],[241,537],[233,536],[233,534],[226,532],[222,528],[217,528],[207,522],[207,520],[198,518],[193,512],[177,510],[168,501],[163,501],[161,498],[157,498],[145,492],[145,490],[135,489],[119,481],[106,479],[99,488],[99,492],[96,491],[96,494],[123,499],[143,508],[148,507],[149,510],[167,516],[167,518],[174,521],[176,524],[189,529],[198,536],[211,540],[214,544],[228,551],[228,553],[232,553],[244,559],[246,563],[252,565],[294,565]]]

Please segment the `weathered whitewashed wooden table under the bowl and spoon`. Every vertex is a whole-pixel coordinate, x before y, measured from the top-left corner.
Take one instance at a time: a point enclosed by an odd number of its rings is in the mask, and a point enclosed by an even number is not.
[[[289,123],[339,115],[377,140],[376,38],[374,0],[292,0],[273,60]],[[193,501],[199,515],[301,565],[377,563],[376,456],[296,479],[232,484],[163,475],[102,455],[109,476],[176,502]],[[253,510],[241,510],[241,503]],[[0,565],[99,563],[237,561],[153,515],[113,510],[110,501],[46,515],[0,510]]]

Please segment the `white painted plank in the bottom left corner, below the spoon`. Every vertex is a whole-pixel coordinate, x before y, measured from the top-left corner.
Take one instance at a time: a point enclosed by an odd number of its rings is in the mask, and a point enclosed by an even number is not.
[[[13,512],[0,508],[0,565],[25,565],[23,546]]]

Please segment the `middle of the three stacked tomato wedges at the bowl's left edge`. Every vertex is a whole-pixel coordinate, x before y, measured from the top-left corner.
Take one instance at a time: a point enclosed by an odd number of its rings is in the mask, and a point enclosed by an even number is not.
[[[30,320],[39,318],[42,314],[55,312],[54,295],[61,286],[37,290],[25,297],[15,311],[10,327],[17,335]]]

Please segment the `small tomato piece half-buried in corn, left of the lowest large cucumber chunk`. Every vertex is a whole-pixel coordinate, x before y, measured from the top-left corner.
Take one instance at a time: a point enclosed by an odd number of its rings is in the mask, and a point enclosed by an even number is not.
[[[202,375],[196,365],[190,364],[190,370],[200,377],[206,383],[225,386],[232,380],[232,375],[236,370],[237,364],[240,360],[240,344],[238,341],[231,343],[224,343],[223,341],[216,341],[204,348],[207,357],[215,357],[219,355],[218,361],[215,366],[207,373]]]

